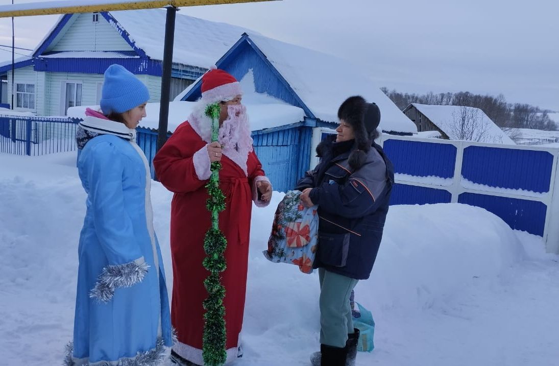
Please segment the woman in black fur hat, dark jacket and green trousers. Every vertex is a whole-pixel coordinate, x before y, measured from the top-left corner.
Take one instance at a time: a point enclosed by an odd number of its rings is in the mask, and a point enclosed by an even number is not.
[[[319,245],[314,268],[320,279],[320,352],[315,366],[354,365],[359,330],[349,296],[371,274],[394,184],[394,169],[374,140],[380,122],[375,103],[346,99],[338,110],[335,141],[323,141],[314,170],[297,183],[301,201],[318,205]]]

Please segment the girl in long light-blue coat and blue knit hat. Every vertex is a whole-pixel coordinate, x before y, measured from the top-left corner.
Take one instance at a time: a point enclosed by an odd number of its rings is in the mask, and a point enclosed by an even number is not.
[[[105,72],[102,113],[88,108],[78,126],[78,173],[87,212],[67,366],[155,366],[172,346],[150,170],[135,142],[148,99],[148,89],[134,74],[111,65]]]

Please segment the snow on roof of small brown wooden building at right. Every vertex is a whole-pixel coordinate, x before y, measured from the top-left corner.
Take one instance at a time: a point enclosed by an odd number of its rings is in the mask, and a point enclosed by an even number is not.
[[[480,110],[475,107],[463,106],[431,106],[428,104],[411,103],[412,106],[431,122],[433,122],[440,130],[442,130],[451,140],[465,140],[459,135],[461,130],[458,120],[462,112],[468,113],[475,123],[472,131],[472,140],[478,142],[492,142],[495,144],[514,144],[508,135],[495,125],[493,121]],[[463,130],[467,130],[463,129]]]

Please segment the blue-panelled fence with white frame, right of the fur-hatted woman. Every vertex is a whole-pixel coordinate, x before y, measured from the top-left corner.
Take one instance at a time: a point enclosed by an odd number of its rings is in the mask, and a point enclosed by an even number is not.
[[[559,149],[387,134],[381,144],[396,172],[391,205],[482,207],[512,229],[542,236],[548,253],[559,253]]]

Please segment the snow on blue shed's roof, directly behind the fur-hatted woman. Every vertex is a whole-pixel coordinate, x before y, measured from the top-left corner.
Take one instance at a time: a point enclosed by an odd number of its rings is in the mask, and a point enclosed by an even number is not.
[[[338,107],[354,95],[377,103],[384,131],[417,132],[396,104],[347,60],[248,32],[250,40],[320,120],[338,121]]]

